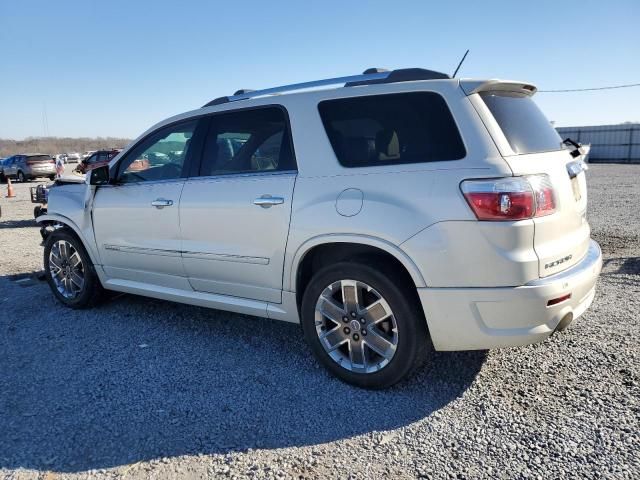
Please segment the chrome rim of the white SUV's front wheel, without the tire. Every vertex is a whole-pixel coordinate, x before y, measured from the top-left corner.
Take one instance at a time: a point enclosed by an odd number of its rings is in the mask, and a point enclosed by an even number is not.
[[[52,245],[49,271],[56,289],[63,297],[73,299],[80,295],[84,287],[84,265],[71,243],[58,240]]]

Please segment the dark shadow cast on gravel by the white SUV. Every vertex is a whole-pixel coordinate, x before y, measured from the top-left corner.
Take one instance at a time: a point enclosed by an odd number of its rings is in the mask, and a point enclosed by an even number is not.
[[[459,398],[485,360],[437,353],[367,391],[327,374],[295,324],[131,295],[69,310],[45,282],[9,277],[0,290],[0,468],[82,472],[397,429]]]

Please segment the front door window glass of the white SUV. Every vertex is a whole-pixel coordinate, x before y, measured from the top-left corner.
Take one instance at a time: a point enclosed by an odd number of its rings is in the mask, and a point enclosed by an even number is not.
[[[180,178],[197,123],[172,125],[143,140],[120,162],[119,183]]]

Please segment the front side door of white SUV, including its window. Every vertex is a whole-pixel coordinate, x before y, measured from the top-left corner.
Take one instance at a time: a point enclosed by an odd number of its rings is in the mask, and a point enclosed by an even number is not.
[[[191,290],[178,208],[196,125],[191,120],[152,133],[112,167],[115,184],[98,187],[93,224],[109,279]]]

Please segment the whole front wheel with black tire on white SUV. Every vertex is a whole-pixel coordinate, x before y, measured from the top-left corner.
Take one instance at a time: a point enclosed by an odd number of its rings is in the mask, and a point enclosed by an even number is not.
[[[102,297],[102,285],[87,251],[64,229],[47,237],[44,270],[55,297],[70,308],[91,307]]]

